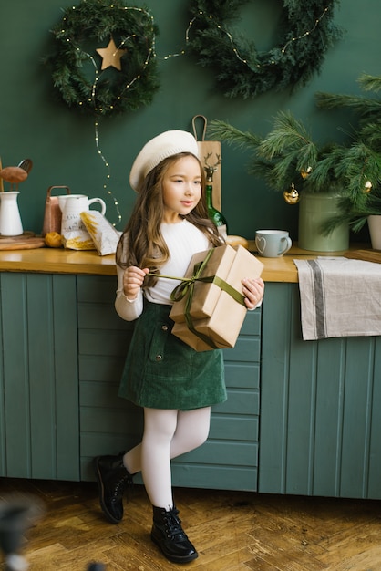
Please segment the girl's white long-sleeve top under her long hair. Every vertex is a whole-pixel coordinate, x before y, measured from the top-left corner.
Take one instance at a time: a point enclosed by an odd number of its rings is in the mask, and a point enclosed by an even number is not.
[[[182,220],[180,223],[162,223],[161,234],[170,250],[170,259],[160,267],[160,274],[183,277],[190,265],[193,254],[209,250],[211,243],[192,223]],[[118,289],[115,300],[115,308],[118,316],[126,321],[137,319],[143,311],[143,292],[140,289],[139,296],[130,301],[123,293],[124,269],[117,265]],[[171,305],[170,294],[180,280],[158,278],[154,287],[145,289],[144,295],[156,304]]]

